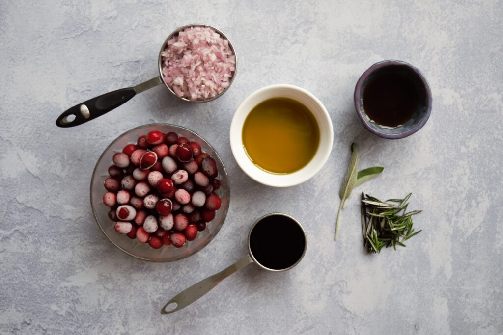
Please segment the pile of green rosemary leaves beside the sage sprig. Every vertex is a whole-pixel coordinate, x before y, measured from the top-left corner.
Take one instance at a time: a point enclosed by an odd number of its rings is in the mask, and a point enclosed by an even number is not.
[[[411,194],[403,199],[381,201],[362,192],[363,245],[369,253],[380,253],[383,247],[395,250],[396,245],[405,247],[403,242],[422,232],[412,228],[412,215],[421,210],[406,212]]]

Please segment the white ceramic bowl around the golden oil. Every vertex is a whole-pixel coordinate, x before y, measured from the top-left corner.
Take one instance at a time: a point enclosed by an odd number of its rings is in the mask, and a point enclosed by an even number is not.
[[[316,154],[306,166],[293,173],[274,174],[260,169],[251,162],[243,147],[242,129],[249,112],[262,101],[275,97],[290,98],[303,103],[311,110],[319,127],[320,138]],[[321,170],[332,150],[333,128],[328,112],[313,94],[297,86],[271,85],[251,93],[237,107],[230,124],[229,138],[230,148],[237,164],[250,178],[264,185],[288,187],[303,183]]]

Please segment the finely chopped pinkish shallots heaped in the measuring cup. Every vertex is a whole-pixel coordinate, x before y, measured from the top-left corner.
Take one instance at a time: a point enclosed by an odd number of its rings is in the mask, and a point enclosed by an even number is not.
[[[180,97],[206,100],[223,92],[235,71],[229,41],[208,27],[190,27],[167,41],[162,76]]]

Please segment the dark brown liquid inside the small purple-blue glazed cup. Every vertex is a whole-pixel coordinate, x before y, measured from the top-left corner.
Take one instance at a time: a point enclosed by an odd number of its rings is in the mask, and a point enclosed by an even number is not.
[[[414,82],[397,72],[376,73],[363,92],[365,114],[382,126],[404,125],[418,106],[419,94]]]

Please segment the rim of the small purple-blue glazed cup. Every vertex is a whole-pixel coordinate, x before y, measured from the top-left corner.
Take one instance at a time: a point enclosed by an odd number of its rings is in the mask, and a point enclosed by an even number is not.
[[[421,120],[414,127],[410,128],[408,130],[405,130],[401,133],[398,133],[398,134],[386,134],[386,133],[380,132],[380,131],[375,130],[374,128],[370,127],[370,125],[369,125],[370,121],[367,120],[367,118],[365,117],[365,115],[363,113],[363,105],[361,103],[362,86],[363,86],[363,83],[365,82],[365,80],[367,80],[367,78],[375,71],[377,71],[381,68],[384,68],[384,67],[396,66],[396,65],[397,66],[405,66],[405,67],[409,68],[412,72],[414,72],[421,79],[421,82],[423,83],[423,86],[425,87],[426,96],[427,96],[426,113],[423,115]],[[428,83],[428,80],[426,79],[424,74],[418,68],[412,66],[411,64],[404,62],[404,61],[400,61],[400,60],[394,60],[394,59],[383,60],[383,61],[377,62],[377,63],[373,64],[372,66],[370,66],[367,70],[365,70],[365,72],[363,72],[363,74],[360,76],[360,78],[356,82],[353,99],[354,99],[355,109],[356,109],[356,113],[358,115],[358,118],[360,118],[360,121],[365,126],[365,128],[369,132],[376,134],[377,136],[380,136],[385,139],[390,139],[390,140],[402,139],[402,138],[405,138],[407,136],[414,134],[415,132],[417,132],[418,130],[423,128],[423,126],[426,124],[426,122],[430,118],[430,114],[432,112],[432,91],[430,88],[430,84]]]

